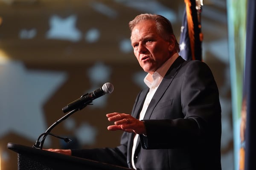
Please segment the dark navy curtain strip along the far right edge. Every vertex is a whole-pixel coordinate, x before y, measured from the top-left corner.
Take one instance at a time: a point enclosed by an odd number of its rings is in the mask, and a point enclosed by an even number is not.
[[[244,87],[247,100],[245,170],[256,170],[256,1],[247,1]]]

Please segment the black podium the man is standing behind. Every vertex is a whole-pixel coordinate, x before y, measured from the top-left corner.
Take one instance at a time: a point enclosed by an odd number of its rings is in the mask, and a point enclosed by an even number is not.
[[[17,152],[18,170],[131,170],[89,159],[67,156],[9,142],[7,148]]]

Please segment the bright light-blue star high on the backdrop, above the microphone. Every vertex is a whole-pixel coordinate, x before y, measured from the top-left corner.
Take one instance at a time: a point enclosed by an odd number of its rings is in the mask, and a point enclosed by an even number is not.
[[[49,19],[50,29],[46,33],[48,39],[69,40],[77,42],[81,40],[81,31],[76,28],[76,15],[70,15],[67,18],[61,18],[52,15]]]

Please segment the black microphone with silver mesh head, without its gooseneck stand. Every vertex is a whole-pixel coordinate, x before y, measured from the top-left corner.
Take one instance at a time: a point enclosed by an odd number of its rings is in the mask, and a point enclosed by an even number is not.
[[[67,113],[75,109],[81,110],[87,104],[93,102],[94,99],[97,99],[98,97],[103,96],[104,94],[112,93],[113,90],[114,86],[110,82],[106,82],[104,85],[102,85],[101,88],[96,89],[90,94],[84,94],[79,99],[76,99],[75,101],[69,103],[67,106],[62,108],[62,111],[64,113]]]

